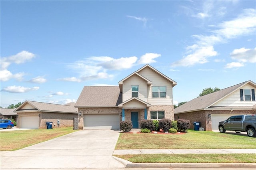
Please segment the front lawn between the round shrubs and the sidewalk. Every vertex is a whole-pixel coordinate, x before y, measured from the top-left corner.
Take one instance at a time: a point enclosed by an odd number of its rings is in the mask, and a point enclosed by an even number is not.
[[[256,148],[256,138],[235,132],[188,130],[185,134],[120,133],[116,149]]]

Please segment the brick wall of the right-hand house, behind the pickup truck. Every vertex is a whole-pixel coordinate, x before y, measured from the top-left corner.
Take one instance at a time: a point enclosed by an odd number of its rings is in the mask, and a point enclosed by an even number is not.
[[[189,113],[180,113],[174,115],[175,120],[178,119],[188,119],[190,121],[190,128],[194,129],[193,122],[200,122],[200,127],[204,130],[212,130],[212,119],[211,114],[232,114],[232,115],[245,115],[245,114],[256,114],[253,110],[206,110],[206,111],[196,111]]]

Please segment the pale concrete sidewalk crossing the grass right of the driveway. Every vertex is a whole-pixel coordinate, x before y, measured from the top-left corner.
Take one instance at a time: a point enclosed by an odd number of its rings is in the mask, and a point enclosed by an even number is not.
[[[124,154],[256,154],[256,149],[122,149],[113,153]]]

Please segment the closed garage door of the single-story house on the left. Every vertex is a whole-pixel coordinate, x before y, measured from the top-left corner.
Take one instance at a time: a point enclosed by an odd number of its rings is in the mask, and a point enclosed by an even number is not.
[[[20,116],[20,128],[38,128],[39,117],[36,116]]]

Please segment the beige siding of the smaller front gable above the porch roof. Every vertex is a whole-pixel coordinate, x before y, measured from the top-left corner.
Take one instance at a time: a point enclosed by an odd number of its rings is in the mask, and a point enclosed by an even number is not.
[[[129,79],[126,79],[123,83],[123,102],[132,98],[132,85],[139,86],[139,99],[147,101],[147,82],[133,75]]]

